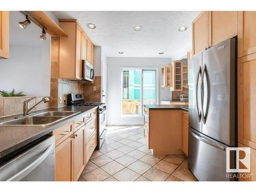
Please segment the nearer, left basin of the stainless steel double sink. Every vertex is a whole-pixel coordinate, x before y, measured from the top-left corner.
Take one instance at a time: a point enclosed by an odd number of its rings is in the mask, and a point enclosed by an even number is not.
[[[48,125],[60,120],[61,118],[63,117],[29,116],[5,121],[0,123],[0,125]]]

